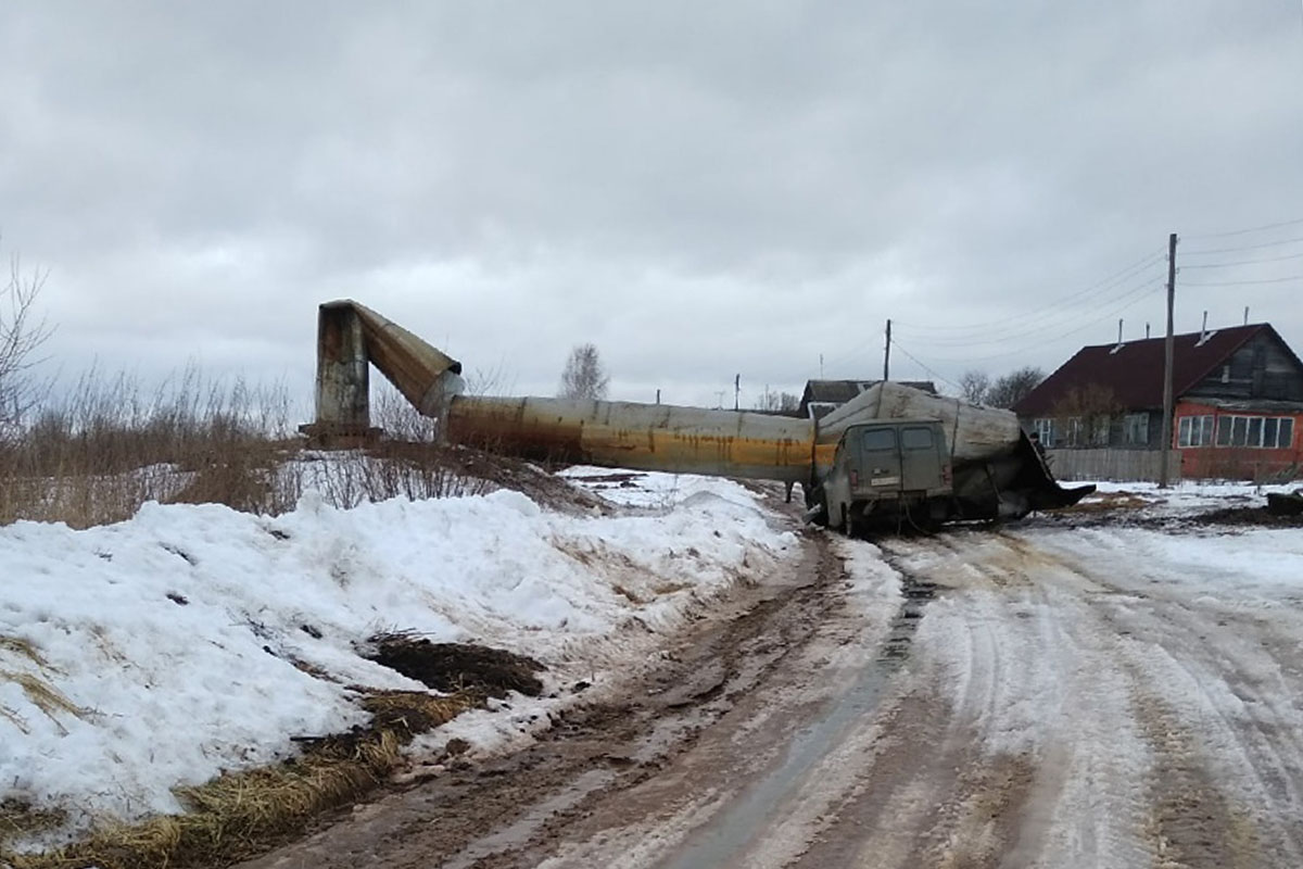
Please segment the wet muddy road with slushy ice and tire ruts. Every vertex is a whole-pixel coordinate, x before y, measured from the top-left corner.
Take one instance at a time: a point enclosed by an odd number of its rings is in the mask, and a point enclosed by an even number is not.
[[[1183,551],[808,533],[530,748],[246,865],[1303,866],[1303,608]]]

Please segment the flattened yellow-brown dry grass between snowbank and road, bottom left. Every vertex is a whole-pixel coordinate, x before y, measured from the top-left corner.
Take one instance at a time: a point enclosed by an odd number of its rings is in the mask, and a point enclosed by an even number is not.
[[[0,862],[13,869],[185,869],[251,857],[301,834],[323,812],[374,791],[401,766],[401,748],[413,736],[476,702],[468,696],[370,693],[362,700],[373,714],[369,727],[305,740],[301,757],[275,766],[180,788],[185,814],[102,827],[85,842],[42,855],[10,853],[0,847]],[[16,829],[30,831],[30,825]]]

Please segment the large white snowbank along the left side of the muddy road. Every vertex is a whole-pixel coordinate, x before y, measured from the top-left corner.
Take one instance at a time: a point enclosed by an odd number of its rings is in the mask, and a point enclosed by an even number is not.
[[[150,503],[81,532],[0,528],[0,800],[74,825],[176,812],[175,786],[362,720],[347,685],[423,688],[362,657],[380,631],[504,648],[542,661],[552,687],[601,687],[649,636],[796,548],[739,485],[627,482],[590,483],[636,507],[616,516],[511,491],[353,509],[309,492],[275,519]],[[525,728],[464,718],[485,749]]]

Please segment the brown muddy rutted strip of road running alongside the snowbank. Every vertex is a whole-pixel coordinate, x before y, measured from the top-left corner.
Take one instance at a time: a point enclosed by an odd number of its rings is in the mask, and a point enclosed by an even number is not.
[[[687,629],[665,664],[623,694],[556,715],[524,750],[358,806],[353,818],[242,865],[538,865],[563,838],[582,831],[599,805],[618,803],[616,795],[654,779],[696,745],[843,605],[844,565],[825,534],[805,539],[795,581],[740,590],[740,614]]]

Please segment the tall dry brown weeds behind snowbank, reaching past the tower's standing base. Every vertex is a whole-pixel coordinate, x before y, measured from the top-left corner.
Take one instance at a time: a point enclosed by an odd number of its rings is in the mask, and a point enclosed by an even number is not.
[[[215,383],[190,369],[146,393],[130,378],[90,374],[23,425],[0,430],[0,525],[90,528],[130,519],[150,500],[278,515],[306,489],[348,508],[493,487],[465,451],[433,443],[433,421],[396,392],[382,393],[374,409],[388,439],[321,459],[304,455],[283,388]]]

